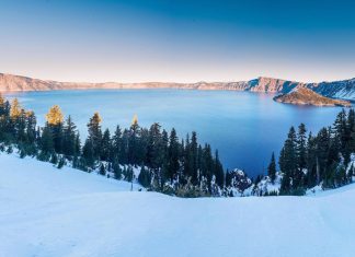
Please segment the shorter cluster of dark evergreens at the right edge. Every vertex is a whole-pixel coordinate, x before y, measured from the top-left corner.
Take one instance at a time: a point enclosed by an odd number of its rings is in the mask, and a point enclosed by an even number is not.
[[[324,189],[352,183],[355,153],[355,112],[342,109],[334,124],[309,132],[304,124],[297,131],[289,129],[280,150],[278,164],[282,171],[280,195],[304,195],[307,189],[322,185]],[[267,174],[276,178],[276,162],[273,153]]]

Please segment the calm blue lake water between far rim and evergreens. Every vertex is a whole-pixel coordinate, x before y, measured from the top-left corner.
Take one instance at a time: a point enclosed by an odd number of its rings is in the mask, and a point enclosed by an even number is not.
[[[41,125],[55,104],[71,115],[81,136],[94,112],[103,128],[117,124],[129,127],[138,115],[139,125],[160,122],[180,137],[197,131],[201,142],[219,150],[225,167],[239,167],[251,176],[263,173],[271,154],[276,155],[290,126],[305,122],[313,132],[333,122],[339,107],[294,106],[275,103],[273,95],[233,91],[190,90],[90,90],[11,94],[33,109]]]

